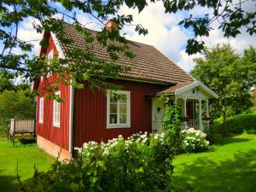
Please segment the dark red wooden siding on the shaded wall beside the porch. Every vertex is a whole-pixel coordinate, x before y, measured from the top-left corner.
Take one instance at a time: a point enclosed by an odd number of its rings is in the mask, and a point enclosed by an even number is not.
[[[92,93],[89,86],[75,90],[74,147],[88,141],[108,141],[122,135],[129,137],[138,131],[151,131],[151,99],[149,94],[161,90],[160,84],[119,80],[123,90],[131,91],[131,128],[107,129],[107,96],[100,91]]]

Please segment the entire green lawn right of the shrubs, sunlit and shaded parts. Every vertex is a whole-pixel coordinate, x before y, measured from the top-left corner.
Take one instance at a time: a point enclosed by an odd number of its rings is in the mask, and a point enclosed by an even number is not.
[[[256,191],[256,135],[216,137],[212,151],[174,160],[174,186],[201,192]]]

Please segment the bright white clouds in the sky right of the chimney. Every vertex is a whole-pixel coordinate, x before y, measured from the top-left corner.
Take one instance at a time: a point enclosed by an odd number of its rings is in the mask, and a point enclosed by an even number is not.
[[[244,6],[249,8],[253,7],[252,5],[248,6],[247,4]],[[209,9],[201,7],[195,7],[195,9],[189,12],[189,14],[199,16],[208,13],[211,13]],[[139,15],[137,14],[137,9],[128,9],[127,7],[120,9],[119,14],[133,15],[134,24],[143,24],[143,26],[148,29],[148,35],[144,37],[143,35],[138,35],[137,32],[134,32],[134,27],[125,26],[125,29],[122,32],[126,33],[126,38],[144,44],[154,45],[155,48],[160,49],[162,53],[170,57],[179,67],[182,67],[187,72],[195,67],[193,59],[201,56],[201,54],[189,56],[185,53],[184,48],[191,32],[177,25],[180,20],[183,20],[184,14],[165,14],[165,9],[161,2],[149,3],[148,7],[146,7]],[[217,23],[214,23],[214,26],[217,25]],[[236,38],[228,39],[224,38],[224,33],[222,31],[215,29],[210,32],[209,37],[203,38],[203,40],[207,46],[230,43],[234,49],[236,49],[236,52],[241,54],[244,49],[247,49],[249,44],[256,46],[256,37],[249,36],[249,34],[245,32],[245,29],[242,29],[241,31],[241,35],[238,35]]]

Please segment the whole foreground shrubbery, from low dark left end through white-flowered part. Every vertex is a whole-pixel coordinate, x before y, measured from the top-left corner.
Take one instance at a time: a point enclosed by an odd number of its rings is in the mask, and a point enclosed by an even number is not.
[[[23,191],[172,191],[172,148],[166,134],[135,134],[108,143],[84,143],[78,158],[35,172]]]

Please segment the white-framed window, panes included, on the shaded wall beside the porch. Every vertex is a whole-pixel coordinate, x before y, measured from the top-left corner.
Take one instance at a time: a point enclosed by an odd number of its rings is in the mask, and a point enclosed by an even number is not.
[[[107,95],[107,128],[131,127],[131,92],[117,90]],[[116,94],[116,95],[115,95]],[[118,96],[117,96],[118,95]]]

